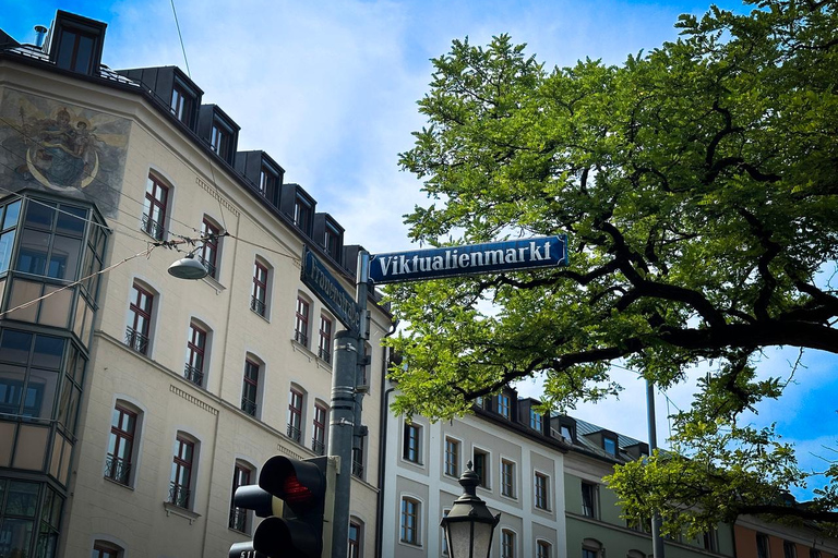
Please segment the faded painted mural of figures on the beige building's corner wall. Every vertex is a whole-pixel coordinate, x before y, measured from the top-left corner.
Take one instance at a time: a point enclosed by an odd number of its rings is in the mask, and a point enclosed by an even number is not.
[[[95,202],[115,217],[130,121],[7,89],[0,99],[0,197],[24,187]]]

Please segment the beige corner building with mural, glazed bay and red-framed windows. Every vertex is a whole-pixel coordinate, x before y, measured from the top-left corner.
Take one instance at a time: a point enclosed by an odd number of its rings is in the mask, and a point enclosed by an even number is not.
[[[105,32],[0,32],[0,556],[226,556],[254,523],[235,486],[327,447],[343,326],[303,246],[350,292],[358,247],[180,70],[100,65]],[[190,251],[210,276],[167,274]],[[392,324],[369,307],[350,546],[371,557]]]

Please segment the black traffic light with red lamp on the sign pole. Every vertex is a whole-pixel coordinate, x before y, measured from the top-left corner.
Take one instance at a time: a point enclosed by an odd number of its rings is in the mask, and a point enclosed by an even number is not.
[[[259,486],[240,486],[234,502],[260,518],[253,541],[236,543],[229,558],[321,558],[331,555],[335,463],[274,456],[259,473]]]

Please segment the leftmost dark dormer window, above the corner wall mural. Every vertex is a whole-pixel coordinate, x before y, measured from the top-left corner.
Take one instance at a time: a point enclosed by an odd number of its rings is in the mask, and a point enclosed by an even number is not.
[[[80,15],[56,13],[49,58],[58,68],[92,75],[101,62],[106,25]]]

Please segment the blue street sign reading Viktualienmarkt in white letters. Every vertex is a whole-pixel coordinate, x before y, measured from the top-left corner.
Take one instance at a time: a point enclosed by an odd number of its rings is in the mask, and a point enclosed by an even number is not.
[[[391,252],[370,256],[370,279],[395,283],[567,265],[567,235]]]

